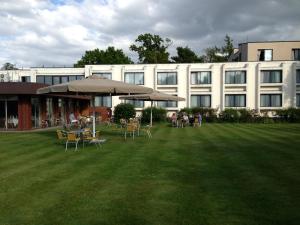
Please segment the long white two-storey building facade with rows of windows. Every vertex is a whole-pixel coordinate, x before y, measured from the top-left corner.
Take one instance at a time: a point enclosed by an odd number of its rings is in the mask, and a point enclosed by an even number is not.
[[[144,85],[186,99],[158,102],[168,111],[184,107],[254,109],[257,112],[300,107],[300,62],[226,62],[191,64],[86,65],[85,68],[29,68],[0,71],[0,81],[58,84],[90,75]],[[96,104],[114,108],[118,97]],[[137,110],[150,105],[134,102]]]

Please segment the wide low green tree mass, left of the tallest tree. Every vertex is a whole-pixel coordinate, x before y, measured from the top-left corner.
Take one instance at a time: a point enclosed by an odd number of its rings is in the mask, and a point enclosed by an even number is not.
[[[74,64],[74,67],[84,67],[85,65],[95,64],[131,64],[131,59],[126,56],[122,49],[108,47],[106,50],[98,48],[86,51],[81,59]]]

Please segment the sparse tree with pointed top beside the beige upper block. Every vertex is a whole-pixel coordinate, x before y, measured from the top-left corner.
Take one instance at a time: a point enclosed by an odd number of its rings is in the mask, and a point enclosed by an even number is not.
[[[222,47],[209,47],[205,49],[205,62],[226,62],[234,51],[233,40],[226,34],[225,44]]]

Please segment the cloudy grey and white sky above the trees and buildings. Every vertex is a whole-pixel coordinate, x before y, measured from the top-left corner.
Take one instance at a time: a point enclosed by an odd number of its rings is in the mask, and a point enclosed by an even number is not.
[[[198,54],[228,34],[247,41],[300,40],[300,0],[0,0],[0,66],[72,66],[86,50],[129,46],[139,34]]]

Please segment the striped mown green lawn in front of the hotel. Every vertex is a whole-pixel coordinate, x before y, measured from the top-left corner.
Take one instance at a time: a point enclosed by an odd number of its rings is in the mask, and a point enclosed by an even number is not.
[[[0,133],[0,224],[299,224],[300,124],[152,134],[64,152],[54,131]]]

